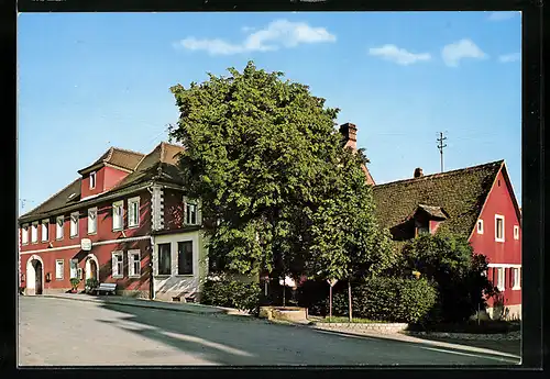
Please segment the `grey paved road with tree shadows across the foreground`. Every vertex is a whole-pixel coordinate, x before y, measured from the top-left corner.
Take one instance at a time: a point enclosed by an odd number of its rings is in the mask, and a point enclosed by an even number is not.
[[[19,297],[20,366],[517,365],[466,347],[351,336],[226,314]]]

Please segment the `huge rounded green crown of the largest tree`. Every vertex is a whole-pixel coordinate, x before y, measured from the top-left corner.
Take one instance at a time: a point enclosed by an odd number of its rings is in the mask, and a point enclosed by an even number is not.
[[[249,63],[172,88],[180,118],[169,135],[185,146],[189,197],[211,221],[211,259],[229,270],[304,274],[308,228],[339,159],[338,109],[307,86]]]

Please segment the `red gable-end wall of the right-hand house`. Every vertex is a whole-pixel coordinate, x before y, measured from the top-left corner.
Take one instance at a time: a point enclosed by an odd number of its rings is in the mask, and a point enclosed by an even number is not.
[[[485,255],[490,264],[521,264],[521,227],[519,227],[519,238],[514,239],[514,225],[520,225],[520,223],[513,196],[501,171],[480,216],[483,220],[483,234],[479,234],[475,227],[470,238],[474,252]],[[504,242],[495,241],[495,214],[504,216]],[[490,279],[493,279],[492,271],[490,268]],[[512,290],[509,268],[506,268],[505,272],[505,303],[520,304],[521,290]]]

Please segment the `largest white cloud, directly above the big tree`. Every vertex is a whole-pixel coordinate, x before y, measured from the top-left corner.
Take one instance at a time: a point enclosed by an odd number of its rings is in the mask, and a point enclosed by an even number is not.
[[[304,22],[276,20],[270,23],[265,29],[249,34],[246,38],[239,44],[232,44],[219,38],[198,40],[195,37],[187,37],[176,43],[175,46],[191,51],[206,51],[210,55],[230,55],[244,52],[270,52],[282,47],[296,47],[299,44],[334,41],[337,41],[337,37],[330,34],[324,27],[312,27]]]

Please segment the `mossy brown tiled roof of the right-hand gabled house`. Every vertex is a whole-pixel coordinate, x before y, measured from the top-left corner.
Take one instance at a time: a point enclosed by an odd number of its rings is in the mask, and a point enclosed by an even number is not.
[[[429,211],[447,212],[448,220],[441,223],[439,231],[469,237],[503,163],[497,160],[374,186],[378,222],[384,227],[394,227],[422,204],[428,205]]]

